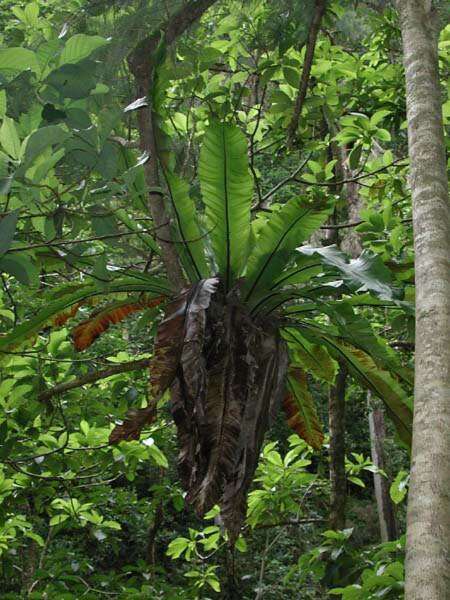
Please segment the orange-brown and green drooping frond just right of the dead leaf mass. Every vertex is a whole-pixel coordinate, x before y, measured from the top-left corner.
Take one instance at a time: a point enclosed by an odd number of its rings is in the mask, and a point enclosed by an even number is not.
[[[287,422],[305,442],[319,450],[323,444],[322,424],[317,416],[314,399],[308,390],[307,376],[302,369],[290,369],[288,394],[283,401]]]

